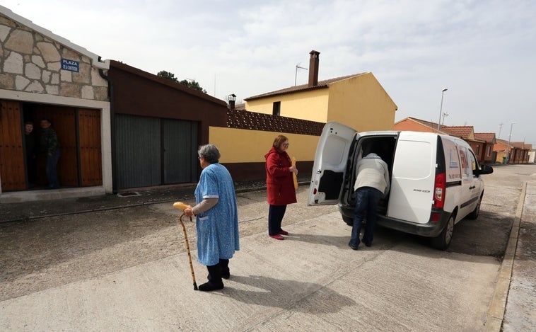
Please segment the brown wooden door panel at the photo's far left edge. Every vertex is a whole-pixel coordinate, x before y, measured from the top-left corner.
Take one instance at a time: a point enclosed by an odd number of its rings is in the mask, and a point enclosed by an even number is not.
[[[2,191],[25,190],[21,103],[0,101],[0,178]]]

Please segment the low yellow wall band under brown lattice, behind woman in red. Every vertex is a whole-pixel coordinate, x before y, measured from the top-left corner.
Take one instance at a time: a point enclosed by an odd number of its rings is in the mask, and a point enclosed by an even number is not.
[[[277,135],[289,137],[289,156],[295,156],[297,161],[312,161],[315,159],[318,136],[303,134],[288,134],[281,132],[263,132],[224,127],[209,127],[209,144],[214,144],[221,153],[220,162],[253,163],[263,162],[264,154],[272,148]]]

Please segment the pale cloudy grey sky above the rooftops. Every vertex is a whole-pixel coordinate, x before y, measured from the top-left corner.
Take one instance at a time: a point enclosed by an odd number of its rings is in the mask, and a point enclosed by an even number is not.
[[[396,120],[473,125],[536,146],[536,1],[3,0],[103,57],[195,79],[238,101],[293,86],[320,52],[319,79],[371,71]],[[298,84],[308,72],[298,69]]]

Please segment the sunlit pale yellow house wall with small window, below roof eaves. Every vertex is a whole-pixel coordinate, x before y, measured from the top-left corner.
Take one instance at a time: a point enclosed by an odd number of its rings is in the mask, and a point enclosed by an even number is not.
[[[245,102],[250,112],[272,114],[274,102],[281,102],[281,116],[316,122],[326,122],[328,88],[289,93]]]

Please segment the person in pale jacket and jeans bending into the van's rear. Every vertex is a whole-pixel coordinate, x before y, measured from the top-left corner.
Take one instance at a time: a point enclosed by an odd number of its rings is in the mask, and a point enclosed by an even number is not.
[[[376,224],[376,208],[380,198],[389,192],[389,169],[385,161],[378,154],[367,154],[357,163],[357,178],[354,184],[354,225],[351,228],[351,239],[348,245],[357,250],[359,246],[359,232],[361,222],[366,216],[363,242],[366,246],[372,245],[373,233]]]

